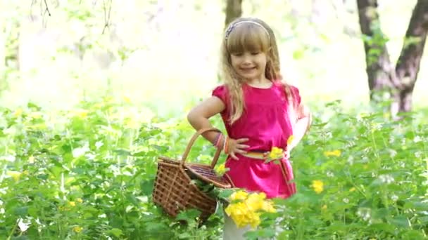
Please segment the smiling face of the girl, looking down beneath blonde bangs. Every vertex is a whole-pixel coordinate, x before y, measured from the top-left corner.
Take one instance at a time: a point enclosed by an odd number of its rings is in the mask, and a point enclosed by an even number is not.
[[[243,51],[231,53],[232,67],[246,81],[265,79],[266,54],[262,51]]]

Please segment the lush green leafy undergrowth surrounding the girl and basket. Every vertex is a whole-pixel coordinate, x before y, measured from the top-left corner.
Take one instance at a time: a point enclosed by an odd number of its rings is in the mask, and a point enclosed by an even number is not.
[[[1,109],[1,236],[219,239],[221,207],[201,225],[197,211],[171,219],[151,202],[156,157],[179,158],[194,131],[184,117],[136,120],[132,109],[109,98],[71,112]],[[426,238],[426,123],[344,114],[337,102],[314,115],[291,153],[298,193],[275,199],[277,213],[264,213],[248,238]],[[208,163],[213,152],[197,140],[187,161]]]

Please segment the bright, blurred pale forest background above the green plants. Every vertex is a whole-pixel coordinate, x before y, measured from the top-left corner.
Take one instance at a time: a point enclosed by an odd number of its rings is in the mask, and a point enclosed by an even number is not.
[[[187,111],[219,84],[225,0],[0,1],[0,102],[70,109],[103,95],[153,114]],[[415,0],[379,0],[391,62],[403,46]],[[282,72],[310,104],[369,102],[356,1],[244,0],[242,16],[277,34]],[[425,51],[426,52],[426,51]],[[427,107],[424,54],[413,107]]]

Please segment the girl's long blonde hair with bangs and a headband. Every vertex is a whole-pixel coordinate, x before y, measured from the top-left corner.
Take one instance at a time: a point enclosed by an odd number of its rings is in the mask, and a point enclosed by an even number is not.
[[[258,18],[238,18],[229,24],[222,42],[222,74],[225,86],[229,91],[229,124],[233,124],[243,114],[244,93],[242,84],[244,79],[234,71],[230,55],[244,51],[261,51],[266,54],[267,62],[265,77],[270,81],[281,81],[279,53],[277,41],[272,29],[263,20]],[[287,99],[296,109],[294,93],[291,87],[282,81]],[[291,105],[291,104],[290,104]]]

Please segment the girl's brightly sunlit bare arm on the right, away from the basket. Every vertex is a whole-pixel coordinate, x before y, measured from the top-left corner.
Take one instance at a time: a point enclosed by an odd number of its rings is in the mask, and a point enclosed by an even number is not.
[[[290,152],[291,149],[296,147],[298,142],[300,142],[303,136],[310,128],[312,123],[312,115],[310,114],[309,107],[303,104],[298,105],[297,108],[297,121],[293,129],[293,140],[290,145],[287,146],[287,152]]]

